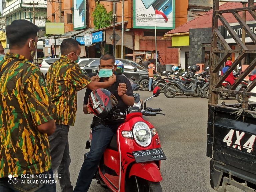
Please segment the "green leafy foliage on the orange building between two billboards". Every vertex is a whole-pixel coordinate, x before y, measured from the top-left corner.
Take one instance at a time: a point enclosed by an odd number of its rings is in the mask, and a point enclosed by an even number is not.
[[[113,23],[113,11],[107,13],[106,8],[100,4],[96,3],[96,8],[92,13],[94,29],[100,29],[107,27]]]

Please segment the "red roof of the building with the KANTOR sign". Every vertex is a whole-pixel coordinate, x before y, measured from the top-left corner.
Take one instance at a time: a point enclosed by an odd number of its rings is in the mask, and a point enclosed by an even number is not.
[[[235,9],[235,8],[241,8],[241,7],[243,7],[242,3],[227,2],[221,5],[219,9],[225,10],[225,9]],[[242,16],[242,12],[239,12],[239,14]],[[238,23],[238,21],[234,18],[232,13],[225,13],[223,14],[223,16],[226,18],[228,23]],[[246,21],[254,21],[253,17],[248,12],[246,12]],[[223,25],[223,24],[219,21],[219,26],[220,25]],[[212,27],[212,10],[206,12],[204,15],[201,15],[167,32],[166,34],[185,33],[185,32],[189,32],[189,29],[208,28],[208,27]]]

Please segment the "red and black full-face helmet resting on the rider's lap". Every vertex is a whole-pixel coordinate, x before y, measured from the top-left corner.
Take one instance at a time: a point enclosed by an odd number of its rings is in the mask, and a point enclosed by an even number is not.
[[[106,89],[94,90],[88,99],[88,107],[94,115],[104,119],[108,113],[117,105],[116,97]]]

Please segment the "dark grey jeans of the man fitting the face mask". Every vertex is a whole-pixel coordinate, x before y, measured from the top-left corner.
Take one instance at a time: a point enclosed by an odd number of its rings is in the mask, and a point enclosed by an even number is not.
[[[73,192],[70,181],[69,165],[71,162],[68,145],[69,125],[57,125],[55,132],[48,136],[50,143],[50,153],[52,157],[53,173],[58,171],[61,175],[59,184],[62,192]]]

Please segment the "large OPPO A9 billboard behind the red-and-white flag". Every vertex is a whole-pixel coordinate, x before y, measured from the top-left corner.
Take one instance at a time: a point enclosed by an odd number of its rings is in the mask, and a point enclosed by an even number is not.
[[[158,17],[155,10],[167,18]],[[175,0],[133,0],[133,27],[154,29],[175,28]]]

